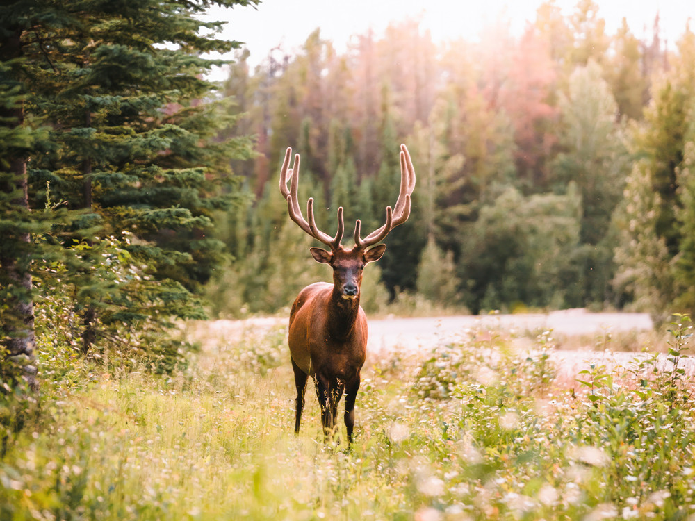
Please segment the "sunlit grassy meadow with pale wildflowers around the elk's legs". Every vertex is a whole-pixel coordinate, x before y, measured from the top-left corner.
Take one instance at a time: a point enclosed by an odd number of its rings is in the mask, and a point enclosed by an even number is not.
[[[0,519],[688,519],[691,329],[676,317],[662,358],[572,381],[550,331],[523,352],[473,330],[368,358],[349,447],[343,425],[324,442],[311,382],[293,435],[283,327],[187,326],[201,347],[163,375],[44,352],[40,403],[0,458]]]

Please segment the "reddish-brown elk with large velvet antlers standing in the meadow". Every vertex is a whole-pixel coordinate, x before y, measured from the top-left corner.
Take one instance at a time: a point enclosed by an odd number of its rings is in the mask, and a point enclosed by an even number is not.
[[[359,305],[362,270],[367,263],[378,261],[386,245],[377,245],[410,215],[411,194],[415,188],[415,169],[404,144],[400,146],[400,193],[391,210],[386,207],[386,224],[365,238],[360,237],[359,219],[354,225],[354,246],[347,249],[343,239],[343,207],[338,208],[338,231],[334,237],[320,231],[313,215],[313,197],[307,201],[302,216],[297,200],[300,155],[295,155],[289,168],[292,149],[288,148],[280,170],[280,192],[287,200],[291,220],[330,251],[311,248],[311,255],[319,263],[333,269],[333,283],[316,282],[306,286],[292,305],[288,343],[295,374],[297,399],[295,400],[295,434],[300,431],[306,381],[312,377],[321,407],[321,422],[325,436],[336,424],[338,402],[345,392],[345,427],[347,440],[352,442],[354,429],[354,401],[359,389],[359,372],[367,353],[367,319]],[[291,179],[290,188],[287,182]],[[373,247],[372,247],[373,246]]]

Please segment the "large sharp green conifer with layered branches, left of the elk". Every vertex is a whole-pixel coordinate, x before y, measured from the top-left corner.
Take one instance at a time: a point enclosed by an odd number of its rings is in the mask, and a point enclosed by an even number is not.
[[[172,317],[204,316],[194,295],[223,258],[213,217],[235,197],[229,160],[248,156],[249,141],[218,139],[233,119],[202,79],[222,62],[202,54],[237,42],[209,35],[221,22],[197,19],[208,1],[25,4],[2,14],[24,23],[17,81],[28,113],[49,125],[31,151],[27,204],[45,199],[49,181],[73,213],[51,233],[75,259],[64,281],[83,313],[83,350],[97,320],[158,336]],[[101,276],[111,258],[130,273]]]

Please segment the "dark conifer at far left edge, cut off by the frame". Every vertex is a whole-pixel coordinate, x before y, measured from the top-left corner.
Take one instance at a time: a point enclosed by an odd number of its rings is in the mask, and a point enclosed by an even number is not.
[[[51,2],[0,6],[0,379],[22,374],[35,383],[32,261],[40,251],[32,240],[47,225],[31,213],[27,163],[45,132],[26,111],[29,95],[26,32],[44,20],[60,23]],[[45,24],[44,24],[45,25]],[[36,43],[34,43],[34,46]],[[33,67],[33,72],[36,72]],[[19,368],[19,372],[15,369]],[[6,388],[3,386],[4,392]]]

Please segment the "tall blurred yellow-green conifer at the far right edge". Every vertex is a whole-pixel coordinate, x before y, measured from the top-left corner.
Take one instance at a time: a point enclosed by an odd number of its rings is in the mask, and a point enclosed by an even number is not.
[[[678,295],[691,290],[680,284],[690,279],[692,256],[687,223],[692,213],[688,136],[695,103],[692,31],[685,32],[678,47],[678,57],[655,83],[644,122],[632,135],[632,153],[639,159],[628,177],[625,204],[616,215],[621,231],[616,286],[634,299],[635,306],[659,317],[674,311],[669,306],[686,304],[688,299]]]

